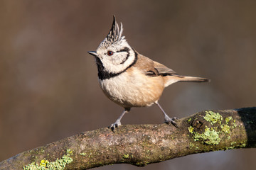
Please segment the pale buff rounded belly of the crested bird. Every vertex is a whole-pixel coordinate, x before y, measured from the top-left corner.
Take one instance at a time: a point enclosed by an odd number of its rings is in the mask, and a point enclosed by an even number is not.
[[[117,77],[100,81],[110,100],[124,108],[151,106],[164,90],[162,77],[148,77],[141,72],[124,72]]]

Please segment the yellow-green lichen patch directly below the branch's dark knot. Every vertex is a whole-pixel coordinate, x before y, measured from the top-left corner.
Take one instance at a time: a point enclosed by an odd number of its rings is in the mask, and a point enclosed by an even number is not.
[[[193,139],[195,141],[201,140],[207,145],[218,145],[220,142],[219,132],[217,132],[213,128],[207,127],[205,129],[205,132],[203,133],[195,132]]]

